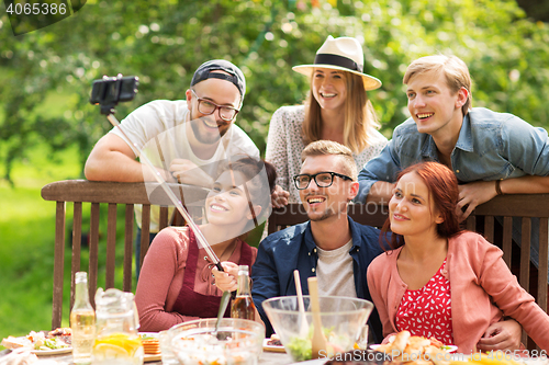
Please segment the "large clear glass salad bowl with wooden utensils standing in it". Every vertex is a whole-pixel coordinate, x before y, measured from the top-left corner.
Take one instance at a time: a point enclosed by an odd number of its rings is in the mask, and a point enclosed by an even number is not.
[[[310,297],[304,295],[303,303],[305,326],[301,324],[303,317],[298,309],[298,296],[276,297],[262,303],[274,332],[294,362],[312,358],[313,313]],[[327,340],[326,352],[321,352],[320,357],[329,358],[336,353],[352,350],[373,304],[358,298],[321,296],[320,305],[322,327]]]

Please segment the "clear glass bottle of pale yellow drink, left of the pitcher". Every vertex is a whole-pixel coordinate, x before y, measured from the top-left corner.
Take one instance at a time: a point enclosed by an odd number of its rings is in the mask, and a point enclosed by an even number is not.
[[[88,294],[88,273],[75,275],[75,305],[70,311],[72,330],[72,361],[75,364],[91,364],[91,351],[96,340],[96,312]]]

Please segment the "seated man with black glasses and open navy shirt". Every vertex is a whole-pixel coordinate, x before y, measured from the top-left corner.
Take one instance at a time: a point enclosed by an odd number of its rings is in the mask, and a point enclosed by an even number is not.
[[[310,220],[267,237],[251,267],[251,296],[268,335],[272,328],[261,303],[295,295],[294,270],[300,271],[303,294],[309,293],[307,277],[317,276],[321,295],[371,300],[366,271],[382,252],[379,230],[347,216],[347,206],[358,192],[351,151],[335,141],[318,140],[305,147],[302,160],[294,184]],[[379,317],[370,318],[374,340],[381,341]]]

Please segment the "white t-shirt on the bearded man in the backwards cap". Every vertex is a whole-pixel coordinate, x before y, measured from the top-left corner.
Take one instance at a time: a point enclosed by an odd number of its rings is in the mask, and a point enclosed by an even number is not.
[[[254,141],[237,125],[233,124],[221,138],[212,158],[198,158],[187,138],[187,124],[190,112],[186,100],[155,100],[139,106],[121,122],[122,129],[133,141],[142,155],[145,155],[154,166],[169,169],[175,158],[187,159],[200,167],[211,176],[215,176],[219,162],[238,156],[259,158],[259,150]],[[132,145],[124,135],[114,127],[112,134]],[[148,167],[144,166],[144,169]],[[135,206],[137,225],[142,225],[142,206]],[[159,208],[152,206],[150,232],[158,231]]]

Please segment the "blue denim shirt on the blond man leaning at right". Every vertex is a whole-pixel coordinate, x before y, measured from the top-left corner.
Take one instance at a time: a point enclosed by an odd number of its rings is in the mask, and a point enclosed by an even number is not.
[[[549,175],[547,130],[519,117],[473,107],[463,117],[458,141],[450,156],[460,183]],[[428,134],[418,133],[413,118],[394,129],[381,155],[365,164],[356,202],[366,202],[377,181],[396,181],[397,173],[417,162],[439,161],[437,146]]]

